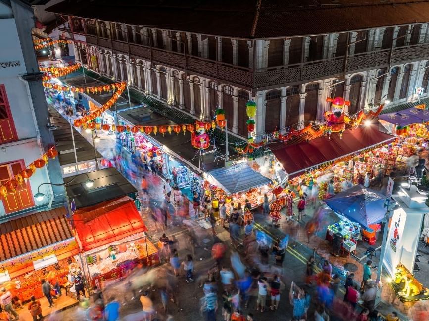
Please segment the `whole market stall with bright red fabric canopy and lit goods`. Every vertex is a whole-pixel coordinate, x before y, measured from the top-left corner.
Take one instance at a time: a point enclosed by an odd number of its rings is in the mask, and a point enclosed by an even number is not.
[[[86,263],[81,268],[93,285],[104,287],[138,264],[159,262],[158,251],[147,239],[147,229],[129,197],[81,208],[73,220]]]

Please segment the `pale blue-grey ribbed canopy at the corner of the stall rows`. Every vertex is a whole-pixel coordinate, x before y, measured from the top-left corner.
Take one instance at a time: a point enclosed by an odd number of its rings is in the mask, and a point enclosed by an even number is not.
[[[247,191],[253,187],[271,183],[271,179],[254,171],[246,163],[214,169],[208,172],[206,179],[211,184],[222,188],[227,194]]]

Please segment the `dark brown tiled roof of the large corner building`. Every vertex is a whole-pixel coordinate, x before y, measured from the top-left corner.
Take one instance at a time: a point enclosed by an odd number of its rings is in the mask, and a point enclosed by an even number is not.
[[[428,0],[66,0],[47,11],[238,38],[291,37],[429,22]]]

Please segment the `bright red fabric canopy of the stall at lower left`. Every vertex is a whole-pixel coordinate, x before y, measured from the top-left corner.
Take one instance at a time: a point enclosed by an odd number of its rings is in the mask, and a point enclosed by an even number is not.
[[[147,231],[134,201],[128,196],[81,208],[73,220],[84,251]]]

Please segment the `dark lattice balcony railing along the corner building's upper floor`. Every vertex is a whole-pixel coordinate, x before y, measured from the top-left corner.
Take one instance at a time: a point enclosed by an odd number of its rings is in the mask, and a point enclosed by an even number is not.
[[[110,40],[102,37],[86,36],[88,43],[104,48],[112,48],[132,58],[151,59],[157,64],[186,69],[195,74],[225,80],[246,88],[264,88],[285,86],[299,81],[311,81],[325,77],[335,77],[344,72],[345,57],[335,57],[302,64],[278,66],[274,68],[253,70],[228,65],[195,56],[186,56],[183,53],[166,51],[158,48],[149,48],[119,40]],[[391,57],[390,57],[391,56]],[[347,73],[375,68],[386,68],[389,60],[392,64],[416,61],[429,58],[429,43],[398,47],[391,53],[390,49],[376,50],[360,54],[349,55],[347,58]]]

